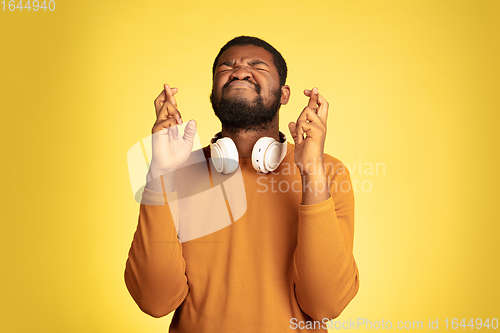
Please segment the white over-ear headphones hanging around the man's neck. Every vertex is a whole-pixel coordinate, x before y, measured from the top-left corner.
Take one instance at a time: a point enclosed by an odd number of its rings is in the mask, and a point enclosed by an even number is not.
[[[252,166],[256,171],[268,173],[276,170],[287,151],[286,135],[281,132],[280,141],[270,137],[257,140],[252,149]],[[230,174],[238,169],[238,149],[231,138],[222,138],[220,132],[210,143],[210,155],[217,172]]]

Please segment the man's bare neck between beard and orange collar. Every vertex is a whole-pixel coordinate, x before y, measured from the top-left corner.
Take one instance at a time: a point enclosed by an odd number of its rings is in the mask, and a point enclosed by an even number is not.
[[[277,117],[276,117],[277,118]],[[238,149],[240,158],[252,157],[252,149],[257,140],[262,137],[271,137],[276,141],[280,141],[279,137],[279,121],[274,119],[265,129],[262,130],[239,130],[227,131],[222,126],[222,137],[231,138]]]

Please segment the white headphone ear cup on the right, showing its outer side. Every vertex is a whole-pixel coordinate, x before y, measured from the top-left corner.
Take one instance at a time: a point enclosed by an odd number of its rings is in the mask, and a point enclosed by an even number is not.
[[[252,166],[256,171],[268,173],[276,170],[281,162],[281,147],[276,140],[263,137],[252,150]]]

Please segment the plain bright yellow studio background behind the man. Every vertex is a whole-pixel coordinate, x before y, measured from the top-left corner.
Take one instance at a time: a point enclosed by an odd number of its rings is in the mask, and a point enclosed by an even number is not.
[[[123,282],[138,215],[127,151],[163,83],[208,143],[211,65],[242,34],[287,60],[286,133],[318,86],[326,152],[371,185],[356,194],[361,287],[338,320],[500,318],[499,17],[500,1],[472,0],[1,11],[0,331],[167,331]]]

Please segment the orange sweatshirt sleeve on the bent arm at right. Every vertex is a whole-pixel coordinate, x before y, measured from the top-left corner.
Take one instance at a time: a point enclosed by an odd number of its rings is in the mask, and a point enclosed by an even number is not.
[[[299,206],[294,256],[296,298],[301,309],[315,320],[338,317],[359,288],[349,172],[339,161],[335,170],[327,168],[327,174],[333,175],[331,197]]]

